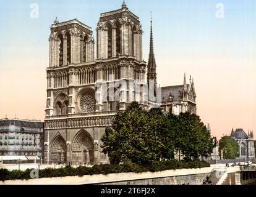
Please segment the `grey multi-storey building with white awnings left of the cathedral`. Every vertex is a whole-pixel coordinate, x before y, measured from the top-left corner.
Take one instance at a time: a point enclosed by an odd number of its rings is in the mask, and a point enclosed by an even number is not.
[[[0,119],[0,160],[34,162],[43,158],[44,123]]]

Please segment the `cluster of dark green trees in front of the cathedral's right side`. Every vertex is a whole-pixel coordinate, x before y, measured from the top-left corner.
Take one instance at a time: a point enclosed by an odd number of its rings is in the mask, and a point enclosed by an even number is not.
[[[143,110],[132,102],[127,110],[114,116],[101,138],[103,151],[111,164],[131,161],[151,164],[160,159],[173,159],[181,151],[186,159],[208,156],[213,138],[197,115],[171,113],[163,115],[160,108]]]

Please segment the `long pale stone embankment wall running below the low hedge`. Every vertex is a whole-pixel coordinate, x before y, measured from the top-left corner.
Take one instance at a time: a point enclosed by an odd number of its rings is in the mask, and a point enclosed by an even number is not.
[[[114,174],[95,174],[72,177],[53,177],[29,180],[6,180],[0,185],[66,185],[66,184],[157,184],[157,185],[190,185],[202,184],[203,179],[210,175],[212,167],[200,169],[178,169],[161,172],[123,172]]]

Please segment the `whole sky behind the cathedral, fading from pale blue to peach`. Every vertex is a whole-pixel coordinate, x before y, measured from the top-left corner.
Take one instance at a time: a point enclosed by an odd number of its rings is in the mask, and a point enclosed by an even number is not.
[[[122,0],[0,0],[0,118],[43,119],[50,26],[77,18],[92,27]],[[256,1],[126,0],[143,28],[148,60],[150,12],[162,86],[191,74],[197,115],[220,139],[234,127],[256,136]],[[38,12],[34,12],[38,10]],[[253,23],[254,22],[254,23]],[[95,44],[96,51],[96,44]]]

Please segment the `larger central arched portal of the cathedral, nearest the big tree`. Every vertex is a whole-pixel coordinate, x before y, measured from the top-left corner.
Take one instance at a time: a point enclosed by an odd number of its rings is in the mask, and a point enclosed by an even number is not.
[[[94,147],[92,136],[84,129],[77,132],[72,142],[72,163],[93,164]]]

